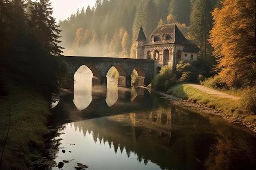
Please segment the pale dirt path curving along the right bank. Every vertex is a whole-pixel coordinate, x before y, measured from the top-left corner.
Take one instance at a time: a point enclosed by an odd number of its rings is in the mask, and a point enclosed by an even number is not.
[[[222,93],[220,91],[216,91],[212,88],[208,88],[208,87],[205,87],[205,86],[202,86],[202,85],[199,85],[199,84],[191,84],[191,83],[188,83],[189,86],[192,86],[194,88],[197,88],[198,90],[200,91],[203,91],[203,92],[206,92],[210,95],[216,95],[216,96],[219,96],[219,97],[225,97],[225,98],[229,98],[229,99],[235,99],[235,100],[238,100],[240,99],[240,97],[236,97],[236,96],[232,96],[232,95],[228,95],[226,93]]]

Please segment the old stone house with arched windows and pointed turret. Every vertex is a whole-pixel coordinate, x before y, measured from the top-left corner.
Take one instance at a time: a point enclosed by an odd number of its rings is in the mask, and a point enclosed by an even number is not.
[[[200,50],[184,37],[176,24],[158,26],[148,38],[141,26],[136,43],[137,59],[158,60],[159,64],[173,70],[180,60],[197,61]]]

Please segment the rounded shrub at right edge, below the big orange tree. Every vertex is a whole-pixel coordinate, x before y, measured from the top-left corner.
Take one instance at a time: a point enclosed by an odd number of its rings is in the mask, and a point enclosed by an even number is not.
[[[240,108],[244,113],[256,115],[256,86],[244,91],[240,98]]]

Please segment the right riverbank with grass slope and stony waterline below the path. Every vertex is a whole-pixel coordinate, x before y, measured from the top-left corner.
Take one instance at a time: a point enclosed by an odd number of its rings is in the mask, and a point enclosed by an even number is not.
[[[245,115],[239,110],[239,99],[227,99],[220,96],[211,96],[188,84],[176,84],[167,92],[157,92],[172,104],[183,108],[198,110],[205,114],[219,115],[223,119],[243,124],[256,132],[256,115]]]

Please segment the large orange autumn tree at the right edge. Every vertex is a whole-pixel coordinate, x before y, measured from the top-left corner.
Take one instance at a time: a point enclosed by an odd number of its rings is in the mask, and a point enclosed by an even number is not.
[[[256,2],[225,0],[213,15],[210,40],[219,76],[228,86],[256,85]]]

